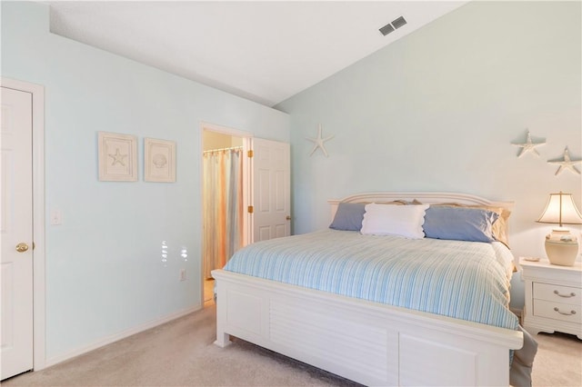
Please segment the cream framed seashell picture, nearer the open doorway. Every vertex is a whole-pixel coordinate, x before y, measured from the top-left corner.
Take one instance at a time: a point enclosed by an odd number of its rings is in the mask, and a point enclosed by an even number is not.
[[[144,181],[176,182],[176,142],[144,139]]]

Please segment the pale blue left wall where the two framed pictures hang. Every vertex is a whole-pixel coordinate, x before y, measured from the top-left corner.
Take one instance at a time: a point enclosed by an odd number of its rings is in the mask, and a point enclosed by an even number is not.
[[[2,76],[45,86],[50,362],[200,306],[200,123],[288,142],[289,118],[50,34],[48,21],[47,5],[2,2]],[[138,137],[139,182],[97,181],[99,131]],[[144,137],[176,141],[176,184],[143,182]],[[48,223],[52,210],[62,225]],[[182,268],[186,282],[178,281]]]

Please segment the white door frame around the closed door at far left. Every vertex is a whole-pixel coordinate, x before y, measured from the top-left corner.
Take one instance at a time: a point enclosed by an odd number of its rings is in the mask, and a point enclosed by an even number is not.
[[[33,370],[45,368],[45,87],[0,77],[9,89],[33,99]]]

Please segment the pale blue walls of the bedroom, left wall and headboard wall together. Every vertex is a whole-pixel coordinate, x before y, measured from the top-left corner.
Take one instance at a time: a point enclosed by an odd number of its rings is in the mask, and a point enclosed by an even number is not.
[[[2,76],[45,85],[46,217],[63,213],[46,224],[47,358],[199,305],[200,122],[291,141],[296,233],[326,227],[329,198],[458,191],[516,201],[513,251],[542,255],[547,193],[580,205],[580,176],[546,161],[582,156],[581,29],[579,2],[472,2],[280,104],[289,119],[52,35],[46,5],[2,2]],[[319,123],[329,158],[308,156]],[[516,157],[526,128],[541,157]],[[98,131],[137,135],[139,160],[144,137],[176,141],[176,184],[144,183],[141,162],[137,183],[98,182]]]

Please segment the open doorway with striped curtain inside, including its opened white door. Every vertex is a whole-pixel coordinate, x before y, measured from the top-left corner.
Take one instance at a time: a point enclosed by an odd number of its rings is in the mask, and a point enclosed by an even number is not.
[[[248,243],[290,235],[291,166],[288,143],[257,138],[252,134],[215,124],[203,123],[201,129],[201,288],[203,305],[206,306],[214,303],[214,280],[210,274],[212,270],[221,269],[236,250]],[[233,172],[231,164],[228,180],[233,182],[228,185],[230,188],[222,188],[226,186],[226,175],[221,177],[223,182],[217,183],[214,173],[206,173],[205,155],[209,154],[226,154],[233,159],[238,157],[238,162],[242,161],[242,164],[236,164],[234,168],[237,173]],[[226,159],[215,161],[223,162],[227,164]],[[238,195],[234,201],[231,196],[235,189]],[[214,199],[214,203],[206,201],[208,198]],[[222,199],[216,200],[217,198]],[[221,216],[230,213],[230,219],[216,217],[217,213],[222,213]],[[233,213],[236,216],[233,217]],[[216,244],[220,233],[226,233],[226,240]],[[206,250],[210,245],[213,247]]]

